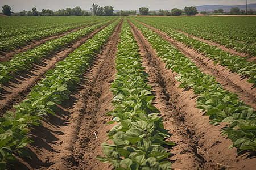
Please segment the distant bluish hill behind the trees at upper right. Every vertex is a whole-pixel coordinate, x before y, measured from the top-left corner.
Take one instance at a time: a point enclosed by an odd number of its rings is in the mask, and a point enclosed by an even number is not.
[[[201,5],[201,6],[195,6],[197,8],[197,11],[207,11],[212,12],[214,10],[218,10],[219,8],[223,9],[224,12],[229,12],[231,8],[238,7],[240,10],[246,10],[246,5]],[[247,10],[250,9],[256,11],[256,3],[251,3],[247,5]]]

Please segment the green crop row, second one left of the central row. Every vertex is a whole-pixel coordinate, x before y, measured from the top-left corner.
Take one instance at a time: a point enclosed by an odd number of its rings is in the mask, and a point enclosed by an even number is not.
[[[114,18],[112,18],[113,20]],[[102,27],[112,20],[106,20],[100,24],[95,24],[90,27],[80,29],[79,31],[69,33],[68,35],[59,37],[45,42],[42,45],[37,46],[27,52],[17,54],[8,62],[0,63],[0,84],[6,83],[11,78],[14,78],[14,73],[25,70],[30,67],[31,63],[34,63],[39,58],[46,57],[49,53],[54,52],[57,49],[79,39],[82,36]],[[1,88],[1,87],[0,87]]]

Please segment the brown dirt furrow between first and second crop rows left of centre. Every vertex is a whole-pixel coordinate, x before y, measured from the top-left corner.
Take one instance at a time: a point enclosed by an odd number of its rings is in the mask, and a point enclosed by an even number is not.
[[[0,89],[0,116],[5,114],[6,110],[11,109],[13,104],[18,104],[20,101],[24,100],[26,95],[28,95],[31,91],[32,87],[35,86],[39,80],[44,77],[44,74],[49,69],[54,69],[57,62],[68,57],[68,54],[74,52],[88,39],[92,39],[96,33],[100,32],[109,24],[96,29],[88,35],[81,37],[79,40],[72,42],[72,44],[64,46],[60,50],[49,54],[48,57],[41,58],[39,62],[33,63],[30,66],[30,69],[15,74],[14,79],[11,79],[5,84],[2,84],[2,89]]]

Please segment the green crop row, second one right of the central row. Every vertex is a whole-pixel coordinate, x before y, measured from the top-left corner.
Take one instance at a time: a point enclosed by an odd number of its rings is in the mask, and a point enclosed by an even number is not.
[[[142,20],[141,18],[136,18],[136,20]],[[191,46],[199,52],[203,53],[205,57],[213,59],[214,64],[219,63],[222,66],[226,66],[232,71],[236,71],[237,74],[242,76],[249,76],[250,79],[247,80],[249,83],[256,84],[256,63],[246,61],[246,57],[233,56],[229,52],[221,50],[217,46],[210,45],[206,42],[202,42],[197,39],[193,39],[189,36],[179,33],[174,29],[161,25],[157,22],[158,20],[146,20],[143,21],[160,31],[165,32],[168,36],[174,38],[177,41],[183,42],[187,46]],[[254,45],[255,46],[255,45]]]

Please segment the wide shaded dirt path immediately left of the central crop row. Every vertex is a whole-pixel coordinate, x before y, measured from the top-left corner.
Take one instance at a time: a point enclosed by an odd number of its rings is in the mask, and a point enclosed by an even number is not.
[[[31,158],[18,158],[19,163],[10,169],[113,168],[96,156],[104,156],[101,143],[113,127],[106,124],[112,118],[106,113],[114,109],[109,89],[117,73],[114,59],[121,27],[122,21],[82,75],[77,90],[59,105],[57,116],[46,116],[43,126],[31,130],[35,141],[28,146]]]

